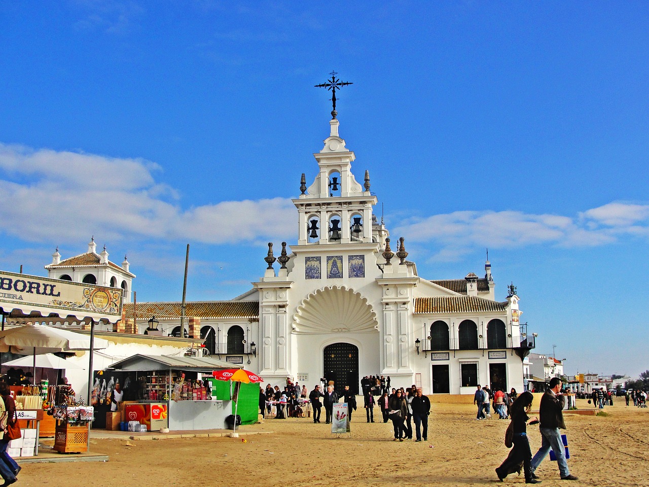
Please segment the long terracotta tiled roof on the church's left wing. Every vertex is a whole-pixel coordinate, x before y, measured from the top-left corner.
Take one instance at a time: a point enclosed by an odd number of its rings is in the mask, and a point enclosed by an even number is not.
[[[180,318],[182,303],[138,303],[138,316]],[[133,303],[124,303],[125,316],[133,316]],[[186,303],[186,316],[198,318],[259,318],[258,301],[192,301]]]

